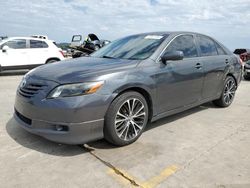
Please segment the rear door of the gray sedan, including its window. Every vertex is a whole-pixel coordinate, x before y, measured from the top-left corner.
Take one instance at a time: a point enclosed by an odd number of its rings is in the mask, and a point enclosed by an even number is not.
[[[220,95],[222,91],[221,82],[223,80],[225,67],[229,63],[228,55],[226,55],[223,48],[210,37],[197,35],[197,44],[205,73],[202,98],[215,98]]]

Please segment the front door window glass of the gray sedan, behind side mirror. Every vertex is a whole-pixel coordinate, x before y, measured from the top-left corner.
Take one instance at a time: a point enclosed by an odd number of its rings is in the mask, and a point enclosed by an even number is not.
[[[197,49],[192,35],[181,35],[176,37],[168,46],[165,51],[170,53],[172,51],[182,51],[184,58],[197,57]]]

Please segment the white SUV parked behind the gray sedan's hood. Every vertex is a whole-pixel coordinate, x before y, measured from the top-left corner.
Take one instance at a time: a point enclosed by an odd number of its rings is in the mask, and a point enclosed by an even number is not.
[[[0,41],[0,71],[32,69],[63,59],[62,50],[51,40],[11,37]]]

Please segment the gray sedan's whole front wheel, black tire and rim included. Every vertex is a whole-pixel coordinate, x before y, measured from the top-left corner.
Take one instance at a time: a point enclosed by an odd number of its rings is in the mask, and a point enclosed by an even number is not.
[[[129,112],[130,106],[130,114]],[[104,138],[116,146],[135,142],[148,122],[148,104],[137,92],[129,91],[118,96],[110,105],[104,125]]]

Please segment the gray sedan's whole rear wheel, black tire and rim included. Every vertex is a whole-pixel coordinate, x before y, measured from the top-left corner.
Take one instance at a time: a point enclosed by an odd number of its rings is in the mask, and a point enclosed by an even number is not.
[[[232,104],[235,92],[236,92],[236,82],[232,76],[227,76],[221,97],[217,100],[214,100],[213,103],[219,107],[228,107]]]

